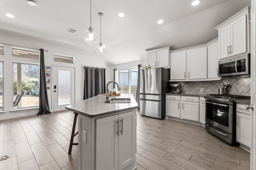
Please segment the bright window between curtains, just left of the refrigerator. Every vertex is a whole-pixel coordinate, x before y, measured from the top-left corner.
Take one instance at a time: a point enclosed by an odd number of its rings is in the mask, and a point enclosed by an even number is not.
[[[137,94],[137,81],[138,81],[138,68],[127,68],[117,70],[118,84],[121,88],[120,93],[132,94],[136,99]]]

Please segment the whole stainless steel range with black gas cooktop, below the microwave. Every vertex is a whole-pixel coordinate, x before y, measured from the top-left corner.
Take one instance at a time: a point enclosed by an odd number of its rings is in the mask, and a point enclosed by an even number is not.
[[[238,145],[234,100],[250,100],[250,96],[208,94],[204,98],[206,99],[205,129],[232,145]]]

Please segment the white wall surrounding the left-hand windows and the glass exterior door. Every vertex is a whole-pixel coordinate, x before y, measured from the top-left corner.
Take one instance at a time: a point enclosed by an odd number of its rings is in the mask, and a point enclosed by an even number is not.
[[[74,49],[64,45],[53,44],[38,39],[32,39],[25,37],[24,35],[14,35],[0,31],[0,44],[12,44],[24,47],[44,49],[48,52],[44,52],[44,61],[46,66],[69,66],[75,68],[75,102],[83,100],[84,94],[84,66],[106,68],[106,82],[109,80],[109,65],[99,56],[96,52],[92,53],[81,49]],[[82,37],[83,38],[83,37]],[[74,57],[74,64],[54,62],[53,55],[68,55]],[[38,108],[11,111],[13,106],[13,94],[12,94],[12,50],[11,46],[4,46],[4,55],[0,55],[0,60],[4,61],[4,112],[0,112],[1,119],[10,119],[19,117],[20,114],[36,115]],[[53,76],[53,75],[52,75]],[[53,82],[53,80],[52,80]],[[51,83],[52,85],[52,83]],[[48,91],[48,99],[50,109],[52,111],[52,87]]]

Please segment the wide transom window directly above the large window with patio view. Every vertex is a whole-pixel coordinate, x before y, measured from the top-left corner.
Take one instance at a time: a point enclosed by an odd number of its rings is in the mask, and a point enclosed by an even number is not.
[[[20,48],[13,47],[12,48],[12,56],[39,60],[39,51],[20,49]]]

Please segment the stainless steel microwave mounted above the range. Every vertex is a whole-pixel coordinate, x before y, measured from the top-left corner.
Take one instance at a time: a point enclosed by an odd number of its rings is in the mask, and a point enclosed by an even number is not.
[[[219,76],[248,76],[250,75],[250,54],[237,55],[218,61]]]

